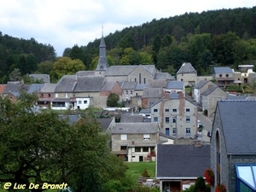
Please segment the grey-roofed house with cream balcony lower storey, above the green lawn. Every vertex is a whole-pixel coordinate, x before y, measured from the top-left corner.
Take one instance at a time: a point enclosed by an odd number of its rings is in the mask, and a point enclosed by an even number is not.
[[[155,123],[117,123],[111,134],[112,153],[129,162],[155,160],[158,132]]]

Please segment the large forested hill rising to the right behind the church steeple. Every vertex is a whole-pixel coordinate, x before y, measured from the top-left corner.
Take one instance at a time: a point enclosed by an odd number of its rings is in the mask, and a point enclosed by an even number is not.
[[[110,65],[143,63],[148,61],[148,55],[142,59],[142,52],[146,52],[162,71],[175,73],[183,61],[190,61],[199,73],[211,73],[209,65],[252,63],[256,57],[255,37],[256,7],[253,7],[152,20],[110,33],[105,42]],[[87,67],[96,61],[99,44],[100,39],[96,39],[80,47]],[[68,51],[63,55],[68,55]]]

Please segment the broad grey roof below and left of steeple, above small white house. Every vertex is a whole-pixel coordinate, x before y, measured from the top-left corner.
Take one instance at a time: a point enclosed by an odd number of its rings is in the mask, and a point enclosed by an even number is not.
[[[104,83],[103,76],[80,76],[75,92],[99,92],[102,90]]]

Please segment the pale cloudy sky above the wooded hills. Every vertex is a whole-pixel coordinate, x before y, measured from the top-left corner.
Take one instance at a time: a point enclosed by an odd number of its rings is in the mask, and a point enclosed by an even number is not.
[[[61,56],[74,44],[151,20],[216,9],[253,8],[255,0],[0,0],[0,32],[51,44]],[[108,46],[108,45],[107,45]]]

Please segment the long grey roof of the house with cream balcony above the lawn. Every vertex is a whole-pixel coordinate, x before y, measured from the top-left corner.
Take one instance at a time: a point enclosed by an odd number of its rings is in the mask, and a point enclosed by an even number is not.
[[[158,131],[156,123],[117,123],[112,134],[150,134]]]

